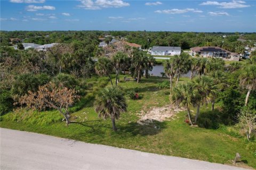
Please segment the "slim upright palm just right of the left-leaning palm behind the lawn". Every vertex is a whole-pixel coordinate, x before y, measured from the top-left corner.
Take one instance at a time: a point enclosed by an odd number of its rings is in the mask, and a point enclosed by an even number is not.
[[[116,86],[117,86],[117,80],[118,80],[118,75],[121,72],[123,68],[126,67],[127,61],[129,61],[129,57],[127,54],[123,52],[117,52],[112,58],[114,69],[116,71]]]

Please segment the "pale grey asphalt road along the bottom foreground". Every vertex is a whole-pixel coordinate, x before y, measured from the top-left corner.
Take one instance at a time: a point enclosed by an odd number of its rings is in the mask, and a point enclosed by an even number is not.
[[[1,169],[242,169],[3,128],[0,138]]]

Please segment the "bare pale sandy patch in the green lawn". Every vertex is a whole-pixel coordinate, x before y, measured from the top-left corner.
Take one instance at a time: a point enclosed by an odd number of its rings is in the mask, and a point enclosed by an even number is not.
[[[153,123],[153,121],[163,122],[171,117],[173,117],[178,112],[185,111],[183,108],[177,108],[173,105],[167,105],[163,107],[154,107],[151,108],[150,111],[140,112],[140,119],[137,123],[141,125],[147,125],[149,123]]]

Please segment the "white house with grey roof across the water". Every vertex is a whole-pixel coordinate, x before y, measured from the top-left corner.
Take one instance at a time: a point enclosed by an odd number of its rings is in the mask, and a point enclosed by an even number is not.
[[[150,50],[151,55],[180,55],[180,53],[180,47],[153,46]]]

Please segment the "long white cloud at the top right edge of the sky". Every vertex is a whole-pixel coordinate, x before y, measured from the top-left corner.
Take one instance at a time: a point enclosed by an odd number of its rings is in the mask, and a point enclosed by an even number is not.
[[[217,5],[220,8],[241,8],[241,7],[249,7],[250,5],[246,5],[245,1],[231,1],[231,2],[217,2],[217,1],[206,1],[200,5]]]

